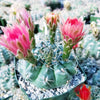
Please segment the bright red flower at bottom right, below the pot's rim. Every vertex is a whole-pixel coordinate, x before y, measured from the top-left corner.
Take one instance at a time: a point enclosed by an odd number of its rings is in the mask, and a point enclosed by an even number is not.
[[[82,85],[82,88],[79,86],[79,88],[77,89],[77,92],[76,92],[76,95],[80,98],[80,100],[90,100],[91,91],[90,91],[90,88],[87,88],[85,84]]]

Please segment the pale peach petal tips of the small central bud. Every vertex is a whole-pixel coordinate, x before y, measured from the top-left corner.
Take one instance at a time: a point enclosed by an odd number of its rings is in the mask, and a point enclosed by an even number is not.
[[[51,22],[51,24],[53,25],[53,24],[57,24],[57,21],[58,21],[58,19],[59,19],[59,16],[58,16],[58,14],[55,14],[55,13],[48,13],[47,15],[46,15],[46,17],[45,17],[45,19],[46,19],[46,23],[47,24],[49,24],[50,22]]]

